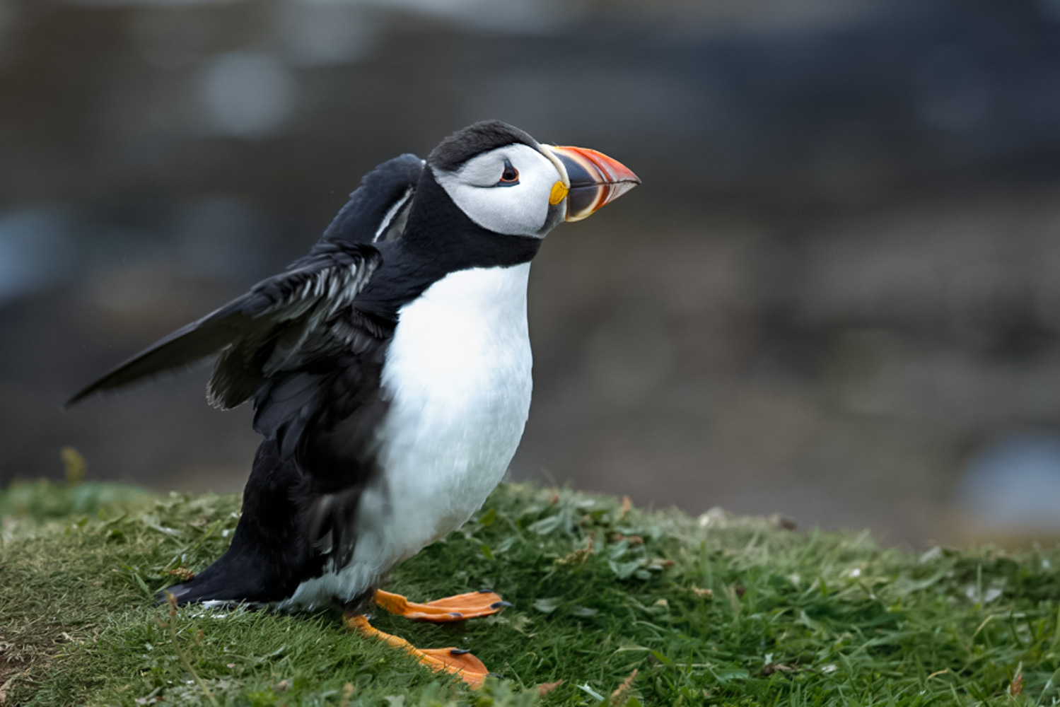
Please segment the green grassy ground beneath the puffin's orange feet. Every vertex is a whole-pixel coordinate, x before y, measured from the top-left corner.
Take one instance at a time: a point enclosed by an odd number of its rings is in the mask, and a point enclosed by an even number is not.
[[[0,494],[7,705],[1060,700],[1057,550],[917,555],[867,534],[623,510],[614,498],[506,484],[387,588],[424,600],[491,587],[514,606],[443,626],[375,621],[418,646],[474,649],[505,676],[474,694],[349,633],[337,613],[171,615],[154,594],[220,554],[238,499],[95,487],[85,500],[83,488],[92,487]]]

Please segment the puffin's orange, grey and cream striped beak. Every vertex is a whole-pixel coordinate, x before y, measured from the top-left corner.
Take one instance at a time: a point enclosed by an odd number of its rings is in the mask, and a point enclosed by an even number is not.
[[[567,220],[581,220],[640,183],[637,175],[595,149],[543,145],[567,171]]]

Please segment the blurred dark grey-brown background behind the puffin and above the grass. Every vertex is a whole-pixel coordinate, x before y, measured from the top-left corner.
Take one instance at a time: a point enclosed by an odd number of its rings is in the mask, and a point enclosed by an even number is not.
[[[1060,0],[0,0],[0,483],[241,489],[205,370],[60,405],[485,118],[643,179],[535,261],[515,478],[1060,534]]]

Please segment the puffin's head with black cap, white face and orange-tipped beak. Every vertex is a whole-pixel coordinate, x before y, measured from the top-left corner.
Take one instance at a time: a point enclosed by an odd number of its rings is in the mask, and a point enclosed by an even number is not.
[[[543,145],[500,121],[475,123],[427,158],[435,179],[473,222],[495,233],[544,237],[640,183],[606,155]]]

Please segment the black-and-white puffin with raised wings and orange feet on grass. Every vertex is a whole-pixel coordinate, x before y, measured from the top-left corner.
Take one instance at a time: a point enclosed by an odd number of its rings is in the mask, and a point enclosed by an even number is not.
[[[170,600],[337,604],[352,629],[479,687],[475,656],[417,649],[366,613],[444,622],[509,605],[488,590],[416,603],[381,585],[463,525],[515,454],[544,237],[638,183],[599,152],[475,123],[426,159],[376,166],[306,255],[74,394],[68,406],[216,356],[208,401],[253,406],[262,441],[231,544]]]

